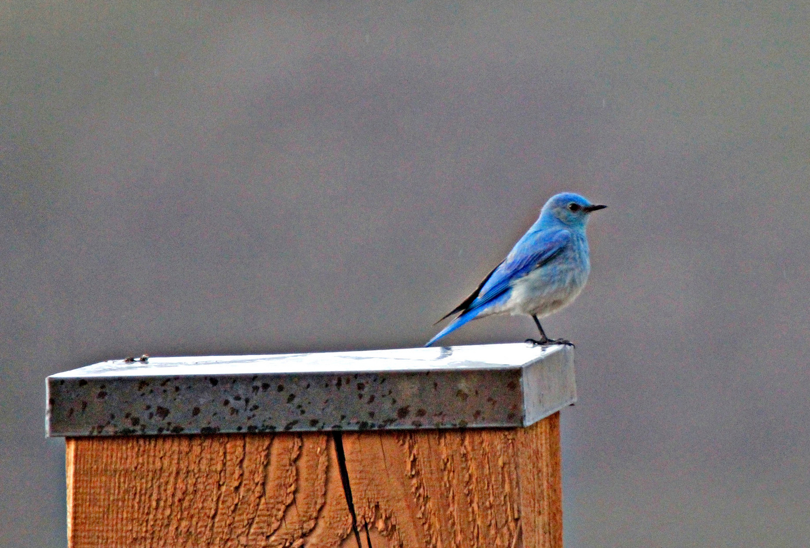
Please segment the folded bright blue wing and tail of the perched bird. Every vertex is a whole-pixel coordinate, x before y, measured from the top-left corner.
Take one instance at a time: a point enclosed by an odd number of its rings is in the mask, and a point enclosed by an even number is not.
[[[571,233],[564,229],[527,232],[515,244],[504,261],[484,278],[480,286],[461,304],[441,318],[444,320],[447,316],[461,312],[454,321],[450,322],[450,325],[437,333],[425,346],[432,345],[447,333],[458,329],[468,321],[475,320],[488,309],[504,304],[509,300],[509,289],[514,282],[551,261],[561,253],[565,244],[568,244],[570,240]]]

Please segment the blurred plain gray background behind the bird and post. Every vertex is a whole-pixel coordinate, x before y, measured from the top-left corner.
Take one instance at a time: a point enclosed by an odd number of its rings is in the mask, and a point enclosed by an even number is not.
[[[761,3],[4,3],[0,544],[65,543],[45,376],[418,346],[573,190],[567,546],[810,546],[810,13]]]

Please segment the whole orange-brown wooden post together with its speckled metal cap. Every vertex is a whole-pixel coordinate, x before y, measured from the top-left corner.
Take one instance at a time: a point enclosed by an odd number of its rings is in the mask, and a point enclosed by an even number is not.
[[[105,362],[48,386],[73,548],[562,546],[569,347]]]

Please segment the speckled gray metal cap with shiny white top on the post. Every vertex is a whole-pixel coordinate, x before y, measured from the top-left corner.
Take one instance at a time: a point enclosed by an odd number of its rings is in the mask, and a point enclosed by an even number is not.
[[[111,360],[47,379],[50,436],[524,427],[577,399],[570,346]]]

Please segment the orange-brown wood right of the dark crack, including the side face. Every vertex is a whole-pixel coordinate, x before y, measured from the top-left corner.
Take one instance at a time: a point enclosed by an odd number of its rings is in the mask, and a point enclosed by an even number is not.
[[[559,414],[518,429],[344,434],[343,448],[364,544],[562,546]]]

